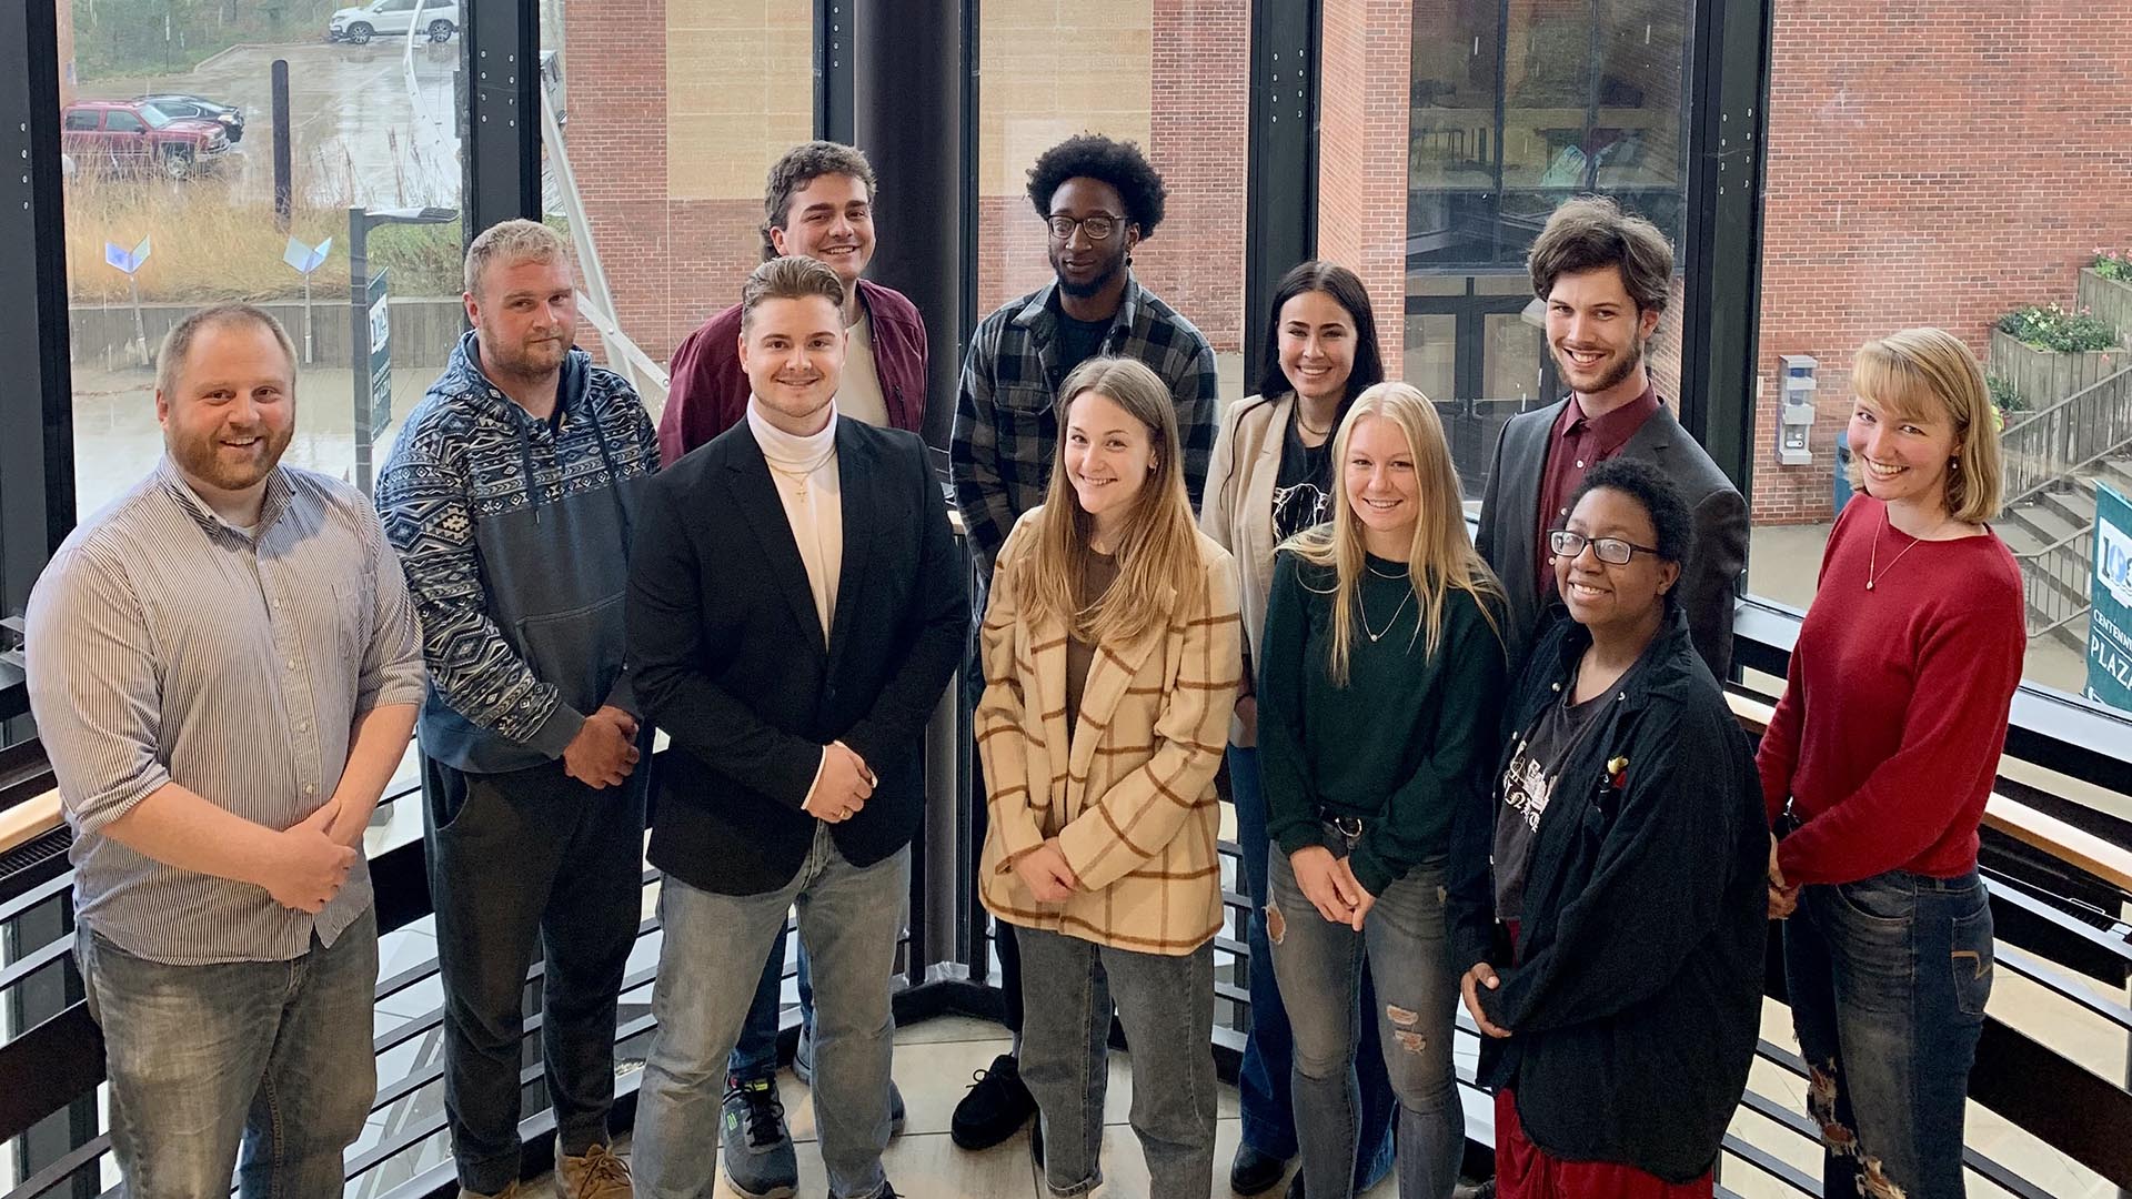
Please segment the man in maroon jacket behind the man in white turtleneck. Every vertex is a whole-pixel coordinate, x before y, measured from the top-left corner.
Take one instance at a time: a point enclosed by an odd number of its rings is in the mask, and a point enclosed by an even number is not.
[[[763,260],[804,254],[844,279],[844,373],[836,412],[868,425],[919,431],[925,420],[925,322],[893,288],[861,279],[874,258],[874,169],[866,156],[834,141],[795,145],[770,169],[763,190]],[[691,333],[672,361],[674,382],[659,414],[659,465],[740,425],[748,412],[748,375],[740,369],[740,305]],[[810,1077],[812,992],[806,949],[800,952],[800,1054],[793,1073]],[[778,1005],[785,979],[785,932],[763,964],[755,1003],[727,1060],[725,1120],[718,1122],[725,1180],[742,1195],[791,1195],[797,1156],[778,1103]],[[904,1099],[889,1084],[898,1129]]]

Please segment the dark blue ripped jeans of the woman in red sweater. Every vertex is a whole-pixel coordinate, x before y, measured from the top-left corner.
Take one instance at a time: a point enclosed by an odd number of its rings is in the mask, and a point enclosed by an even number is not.
[[[1974,870],[1810,885],[1784,981],[1823,1195],[1961,1197],[1961,1120],[1991,996],[1991,900]]]

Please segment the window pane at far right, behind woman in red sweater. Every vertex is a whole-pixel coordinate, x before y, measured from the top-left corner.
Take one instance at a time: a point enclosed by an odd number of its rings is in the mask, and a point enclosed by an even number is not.
[[[2109,132],[2132,79],[2096,70],[2123,11],[1925,9],[1776,11],[1748,587],[1812,600],[1848,491],[1851,354],[1936,324],[1987,363],[2002,410],[2010,503],[1993,529],[2025,578],[2028,678],[2079,696],[2111,664],[2132,674],[2132,627],[2089,612],[2098,495],[2132,493],[2132,284],[2094,269],[2132,245]],[[1814,384],[1793,388],[1810,425],[1789,452],[1787,369]]]

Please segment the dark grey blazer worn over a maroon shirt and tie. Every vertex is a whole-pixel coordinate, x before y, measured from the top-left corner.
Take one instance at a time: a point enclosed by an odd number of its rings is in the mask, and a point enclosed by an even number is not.
[[[1503,425],[1480,503],[1475,548],[1503,580],[1509,600],[1516,634],[1512,672],[1548,625],[1550,608],[1563,602],[1552,591],[1537,591],[1533,567],[1539,561],[1539,476],[1548,465],[1548,431],[1565,403],[1567,397]],[[1746,567],[1746,499],[1665,405],[1622,444],[1620,457],[1665,471],[1695,514],[1695,544],[1689,561],[1680,563],[1680,606],[1689,614],[1695,653],[1710,674],[1725,678],[1731,668],[1733,580]]]

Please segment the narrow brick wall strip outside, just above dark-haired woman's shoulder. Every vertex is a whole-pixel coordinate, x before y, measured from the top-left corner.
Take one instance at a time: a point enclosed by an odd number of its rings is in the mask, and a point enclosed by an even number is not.
[[[1407,66],[1414,0],[1326,0],[1318,68],[1318,256],[1377,309],[1384,371],[1407,348]]]

